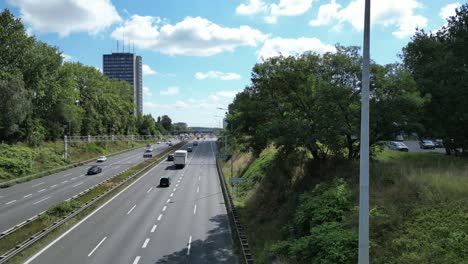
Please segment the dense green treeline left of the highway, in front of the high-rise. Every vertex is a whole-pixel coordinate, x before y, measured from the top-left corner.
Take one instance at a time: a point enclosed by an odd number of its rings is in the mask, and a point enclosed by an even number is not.
[[[166,134],[171,119],[135,115],[133,88],[94,67],[63,62],[57,47],[0,13],[0,141],[38,145],[64,135]]]

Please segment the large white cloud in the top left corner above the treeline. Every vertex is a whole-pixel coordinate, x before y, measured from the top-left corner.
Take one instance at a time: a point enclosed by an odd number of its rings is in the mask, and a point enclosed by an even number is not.
[[[61,37],[73,32],[95,35],[121,20],[110,0],[8,0],[19,7],[21,18],[32,31],[57,33]]]

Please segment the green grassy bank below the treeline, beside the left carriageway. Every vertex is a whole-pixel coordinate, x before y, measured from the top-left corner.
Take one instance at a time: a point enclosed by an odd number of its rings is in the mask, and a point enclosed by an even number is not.
[[[133,147],[149,142],[134,142]],[[0,144],[0,182],[46,172],[72,163],[89,160],[132,148],[128,142],[71,144],[70,159],[63,159],[63,142],[47,142],[37,148],[26,144]]]

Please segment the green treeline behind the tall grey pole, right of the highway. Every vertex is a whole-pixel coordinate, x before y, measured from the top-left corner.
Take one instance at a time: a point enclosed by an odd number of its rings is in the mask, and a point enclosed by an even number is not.
[[[436,34],[419,30],[403,64],[371,63],[370,142],[401,132],[443,138],[468,150],[468,4]],[[256,64],[252,84],[229,106],[236,139],[254,153],[269,144],[309,150],[316,160],[359,155],[362,57],[358,47],[274,57]],[[228,130],[230,130],[228,128]]]

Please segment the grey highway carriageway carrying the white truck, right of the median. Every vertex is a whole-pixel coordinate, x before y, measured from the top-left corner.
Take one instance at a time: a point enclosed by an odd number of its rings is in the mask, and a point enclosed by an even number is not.
[[[25,263],[238,263],[215,163],[202,141],[188,165],[164,161]],[[158,187],[171,176],[169,187]]]

